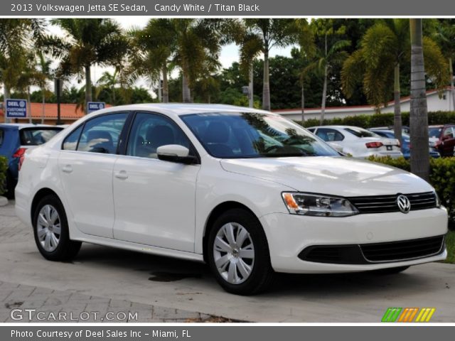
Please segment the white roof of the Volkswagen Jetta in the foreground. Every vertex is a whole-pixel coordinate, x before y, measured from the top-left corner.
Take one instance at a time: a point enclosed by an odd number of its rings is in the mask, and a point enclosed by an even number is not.
[[[253,109],[249,107],[236,107],[228,104],[198,104],[198,103],[146,103],[146,104],[128,104],[118,107],[108,107],[102,110],[97,110],[87,116],[97,116],[107,112],[122,112],[147,110],[152,112],[159,112],[162,114],[181,116],[185,114],[198,114],[210,112],[256,112],[262,114],[274,114],[264,110]],[[274,114],[277,115],[277,114]],[[278,115],[277,115],[278,116]]]

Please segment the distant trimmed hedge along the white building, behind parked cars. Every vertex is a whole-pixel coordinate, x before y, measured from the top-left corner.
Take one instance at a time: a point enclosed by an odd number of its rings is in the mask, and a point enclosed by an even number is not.
[[[410,125],[410,113],[402,112],[402,124]],[[298,121],[298,123],[301,123]],[[455,123],[455,112],[429,112],[428,123],[432,124],[449,124]],[[344,118],[324,119],[324,126],[328,125],[343,125],[343,126],[361,126],[363,128],[371,128],[373,126],[393,126],[393,113],[391,114],[373,114],[373,115],[358,115],[348,116]],[[304,122],[304,126],[319,126],[319,119],[308,119]]]

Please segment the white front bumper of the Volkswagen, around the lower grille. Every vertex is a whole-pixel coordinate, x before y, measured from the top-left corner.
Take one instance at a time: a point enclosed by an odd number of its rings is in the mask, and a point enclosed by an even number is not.
[[[269,242],[272,267],[278,272],[317,274],[368,271],[440,261],[446,259],[447,255],[443,245],[430,256],[407,260],[337,264],[301,259],[304,258],[302,251],[309,247],[373,245],[443,236],[447,232],[447,212],[444,208],[415,210],[407,215],[390,212],[343,218],[274,213],[264,215],[260,221]]]

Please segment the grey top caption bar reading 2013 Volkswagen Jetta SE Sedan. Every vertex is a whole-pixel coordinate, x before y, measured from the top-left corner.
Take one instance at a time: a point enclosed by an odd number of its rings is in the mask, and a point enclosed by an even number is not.
[[[455,16],[447,0],[6,0],[0,16]]]

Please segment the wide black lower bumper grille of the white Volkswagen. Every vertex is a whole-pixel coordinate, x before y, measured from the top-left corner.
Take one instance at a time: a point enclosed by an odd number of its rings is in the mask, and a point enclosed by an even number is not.
[[[311,245],[299,254],[303,261],[330,264],[371,264],[406,261],[440,254],[444,236],[375,244]]]

